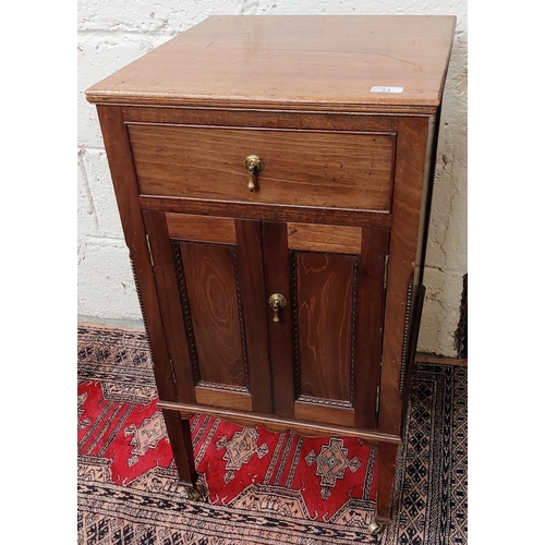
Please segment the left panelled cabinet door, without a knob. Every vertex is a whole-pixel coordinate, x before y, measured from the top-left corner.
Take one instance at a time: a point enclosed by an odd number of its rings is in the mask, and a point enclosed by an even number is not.
[[[179,401],[271,413],[261,222],[143,217]]]

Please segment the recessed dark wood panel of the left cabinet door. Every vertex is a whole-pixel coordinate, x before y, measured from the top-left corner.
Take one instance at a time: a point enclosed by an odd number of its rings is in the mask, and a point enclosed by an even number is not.
[[[180,242],[201,378],[245,386],[233,247]]]

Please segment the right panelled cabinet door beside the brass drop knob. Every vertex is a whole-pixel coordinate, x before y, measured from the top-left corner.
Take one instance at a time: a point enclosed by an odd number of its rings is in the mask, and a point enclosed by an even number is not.
[[[275,413],[376,427],[388,230],[264,222]]]

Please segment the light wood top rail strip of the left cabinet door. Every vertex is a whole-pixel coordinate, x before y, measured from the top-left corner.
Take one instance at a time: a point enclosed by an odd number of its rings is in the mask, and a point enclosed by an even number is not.
[[[232,218],[213,218],[190,214],[167,214],[166,217],[171,239],[223,244],[237,243]]]

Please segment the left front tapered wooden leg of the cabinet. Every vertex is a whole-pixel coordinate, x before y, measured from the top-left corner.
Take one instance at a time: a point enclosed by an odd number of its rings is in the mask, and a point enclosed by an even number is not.
[[[178,411],[162,410],[165,424],[169,434],[175,467],[180,476],[180,483],[194,488],[197,482],[195,470],[195,458],[193,457],[193,444],[191,441],[191,427],[187,419],[182,419]]]

